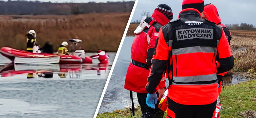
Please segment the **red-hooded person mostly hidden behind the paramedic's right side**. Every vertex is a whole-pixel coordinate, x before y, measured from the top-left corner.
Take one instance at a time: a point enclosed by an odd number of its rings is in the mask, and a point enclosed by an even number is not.
[[[228,40],[228,43],[230,45],[230,40],[232,39],[231,33],[227,29],[227,27],[221,23],[221,18],[219,16],[219,13],[218,13],[218,10],[217,10],[216,6],[214,6],[213,4],[204,5],[202,18],[206,19],[206,20],[209,20],[211,22],[214,22],[218,26],[221,26],[222,29],[225,32],[225,36],[226,36],[226,38]],[[220,63],[218,61],[216,61],[216,63],[217,63],[217,66],[220,67]],[[220,94],[221,94],[222,78],[223,78],[224,74],[226,74],[226,73],[227,72],[217,74],[218,84],[219,84],[219,87],[218,87],[219,97],[220,97]],[[218,100],[219,100],[219,98],[218,98]],[[220,101],[218,101],[217,106],[216,106],[216,115],[215,115],[216,118],[220,117],[220,110],[221,110],[221,104],[220,104]]]

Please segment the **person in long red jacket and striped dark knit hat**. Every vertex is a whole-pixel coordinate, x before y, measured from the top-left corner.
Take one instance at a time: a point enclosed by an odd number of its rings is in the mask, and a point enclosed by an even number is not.
[[[166,4],[160,4],[151,17],[144,16],[142,18],[138,28],[134,31],[136,36],[131,47],[131,61],[127,69],[124,88],[130,90],[132,115],[134,115],[132,91],[137,93],[142,112],[140,118],[163,118],[164,111],[159,108],[153,109],[146,105],[147,90],[145,86],[150,72],[149,69],[152,65],[151,59],[159,30],[172,19],[172,9]],[[164,74],[162,73],[162,75]],[[159,91],[157,93],[161,98],[165,90],[165,80],[162,79],[162,82],[158,83],[158,88]],[[155,107],[158,104],[159,102]]]

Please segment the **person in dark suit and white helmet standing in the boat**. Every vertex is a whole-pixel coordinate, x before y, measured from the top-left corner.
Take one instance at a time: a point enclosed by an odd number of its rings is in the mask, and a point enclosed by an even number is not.
[[[27,51],[28,52],[33,52],[33,47],[35,45],[35,31],[34,30],[29,30],[27,34]]]

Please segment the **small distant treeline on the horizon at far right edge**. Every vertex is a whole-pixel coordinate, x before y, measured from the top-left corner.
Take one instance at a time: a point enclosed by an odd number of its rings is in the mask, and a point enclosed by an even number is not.
[[[239,24],[227,24],[226,27],[229,30],[251,30],[256,31],[256,27],[252,24],[241,23]]]

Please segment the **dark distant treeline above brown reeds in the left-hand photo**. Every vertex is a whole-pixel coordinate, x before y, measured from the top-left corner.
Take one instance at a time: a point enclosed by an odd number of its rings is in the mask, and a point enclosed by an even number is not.
[[[2,15],[70,15],[102,12],[131,12],[134,1],[107,3],[51,3],[40,1],[0,1]]]

